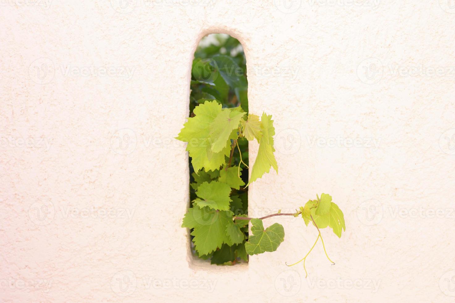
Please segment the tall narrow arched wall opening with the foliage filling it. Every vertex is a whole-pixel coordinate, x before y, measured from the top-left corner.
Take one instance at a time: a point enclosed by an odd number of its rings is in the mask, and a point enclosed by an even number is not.
[[[195,222],[186,227],[192,254],[211,264],[246,263],[248,221],[226,229],[232,221],[229,212],[238,216],[248,211],[248,141],[239,135],[248,117],[248,81],[240,42],[226,34],[203,37],[194,53],[190,88],[190,119],[199,117],[193,122],[204,133],[188,141],[198,144],[193,152],[188,149],[189,207]],[[222,136],[227,141],[218,142]]]

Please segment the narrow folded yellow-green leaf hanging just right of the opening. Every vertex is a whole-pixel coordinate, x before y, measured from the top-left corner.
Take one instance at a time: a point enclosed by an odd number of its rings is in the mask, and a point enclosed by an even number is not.
[[[261,178],[265,173],[268,173],[271,167],[273,167],[273,169],[275,169],[278,173],[277,160],[273,154],[275,151],[273,148],[273,135],[275,134],[275,128],[273,128],[272,115],[268,116],[266,113],[263,113],[261,123],[263,126],[262,137],[259,142],[258,155],[254,161],[250,180],[248,181],[247,186],[258,178]]]

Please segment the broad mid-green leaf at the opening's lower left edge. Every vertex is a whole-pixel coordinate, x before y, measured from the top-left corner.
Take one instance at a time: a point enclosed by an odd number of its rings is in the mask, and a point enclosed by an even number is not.
[[[199,255],[207,255],[230,241],[226,226],[232,221],[232,216],[231,211],[216,211],[195,205],[185,214],[182,227],[193,228],[191,235],[194,236],[196,251]]]

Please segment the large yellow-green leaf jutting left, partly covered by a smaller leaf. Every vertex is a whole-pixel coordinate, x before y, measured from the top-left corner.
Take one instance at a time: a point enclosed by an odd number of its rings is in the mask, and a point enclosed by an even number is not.
[[[211,150],[209,140],[210,124],[221,112],[222,106],[215,100],[198,105],[193,111],[195,116],[188,118],[176,138],[188,142],[187,151],[195,172],[202,168],[206,171],[216,170],[226,164],[226,157],[231,151],[231,142],[226,141],[224,148],[215,153]]]

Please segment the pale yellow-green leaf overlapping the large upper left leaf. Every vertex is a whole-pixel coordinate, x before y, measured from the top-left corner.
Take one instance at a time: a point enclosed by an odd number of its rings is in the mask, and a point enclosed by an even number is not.
[[[210,123],[209,137],[212,141],[212,152],[219,153],[222,151],[233,130],[238,128],[243,115],[245,115],[244,112],[223,108],[221,113]]]

